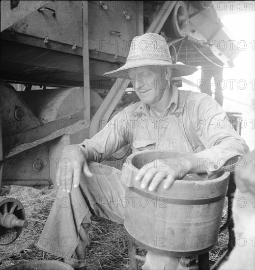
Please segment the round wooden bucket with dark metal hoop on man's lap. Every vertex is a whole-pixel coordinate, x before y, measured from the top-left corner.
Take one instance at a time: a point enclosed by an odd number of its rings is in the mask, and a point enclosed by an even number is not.
[[[156,191],[141,189],[141,181],[134,179],[148,162],[154,160],[163,166],[166,159],[185,155],[154,150],[138,152],[123,164],[121,176],[126,186],[123,206],[128,236],[148,250],[176,257],[203,254],[216,245],[229,172],[220,172],[209,180],[188,174],[175,180],[170,189],[163,189],[163,180]]]

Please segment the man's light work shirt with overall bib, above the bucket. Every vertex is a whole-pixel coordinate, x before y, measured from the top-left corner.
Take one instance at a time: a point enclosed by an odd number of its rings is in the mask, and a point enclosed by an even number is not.
[[[194,153],[198,166],[210,176],[219,169],[233,170],[238,158],[249,150],[235,132],[222,107],[204,93],[178,90],[173,84],[164,117],[155,119],[147,104],[124,108],[91,139],[80,144],[88,161],[102,162],[126,144],[133,153],[171,150]]]

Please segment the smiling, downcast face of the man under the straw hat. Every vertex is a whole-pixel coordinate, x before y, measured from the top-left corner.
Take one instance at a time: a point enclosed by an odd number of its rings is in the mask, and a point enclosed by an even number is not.
[[[128,71],[133,87],[142,103],[153,105],[160,101],[170,79],[170,68],[143,66]]]

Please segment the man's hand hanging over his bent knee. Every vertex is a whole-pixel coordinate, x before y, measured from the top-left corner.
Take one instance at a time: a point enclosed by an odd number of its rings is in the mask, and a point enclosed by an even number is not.
[[[57,169],[57,186],[62,186],[64,192],[71,192],[72,185],[78,188],[80,185],[81,173],[87,177],[92,177],[82,150],[77,145],[70,145],[64,148],[62,160],[67,161]]]

